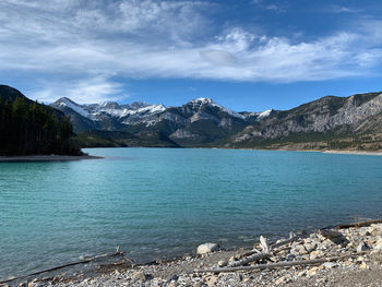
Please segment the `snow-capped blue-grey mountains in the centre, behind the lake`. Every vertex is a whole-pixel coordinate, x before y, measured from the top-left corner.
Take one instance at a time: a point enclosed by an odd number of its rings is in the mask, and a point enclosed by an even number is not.
[[[70,116],[77,133],[98,130],[128,132],[144,137],[147,134],[160,134],[162,137],[168,137],[171,145],[176,142],[180,146],[220,144],[248,123],[274,112],[236,112],[210,98],[196,98],[180,107],[168,108],[142,101],[130,105],[79,105],[69,98],[60,98],[51,107]]]

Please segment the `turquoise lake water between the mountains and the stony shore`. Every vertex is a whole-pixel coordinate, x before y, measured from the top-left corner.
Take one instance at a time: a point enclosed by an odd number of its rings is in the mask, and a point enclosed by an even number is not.
[[[382,216],[381,156],[86,152],[105,159],[0,164],[0,279],[117,246],[148,261]]]

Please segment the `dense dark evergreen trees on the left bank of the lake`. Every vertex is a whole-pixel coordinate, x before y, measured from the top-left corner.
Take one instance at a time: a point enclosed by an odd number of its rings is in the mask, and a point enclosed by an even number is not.
[[[45,105],[0,97],[0,155],[80,155],[68,117]]]

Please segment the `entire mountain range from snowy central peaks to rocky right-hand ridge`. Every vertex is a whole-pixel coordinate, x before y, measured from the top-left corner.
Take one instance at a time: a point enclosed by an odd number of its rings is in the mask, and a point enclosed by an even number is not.
[[[290,110],[236,112],[210,98],[180,107],[60,98],[82,146],[382,150],[382,93],[325,96]]]

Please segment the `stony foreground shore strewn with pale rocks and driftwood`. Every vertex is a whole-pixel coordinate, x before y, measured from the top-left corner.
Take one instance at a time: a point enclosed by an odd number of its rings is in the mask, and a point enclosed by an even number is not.
[[[126,258],[94,276],[57,275],[20,286],[382,286],[382,223],[291,234],[275,242],[261,238],[252,250],[206,243],[195,255],[168,262],[134,266]]]

